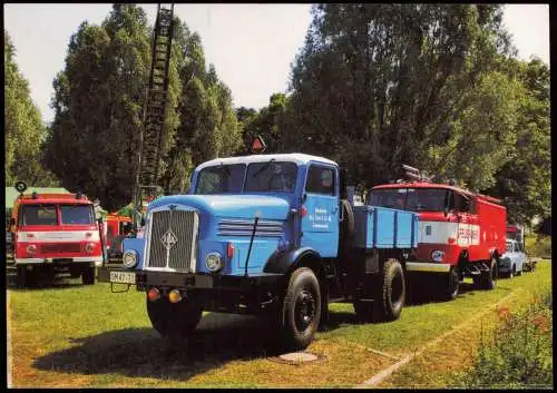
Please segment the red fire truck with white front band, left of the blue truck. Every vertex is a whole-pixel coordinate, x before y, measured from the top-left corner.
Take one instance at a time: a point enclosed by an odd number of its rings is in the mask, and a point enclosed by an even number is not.
[[[13,204],[10,232],[18,284],[25,286],[39,275],[53,277],[56,273],[95,284],[102,246],[92,203],[79,193],[23,195],[27,186],[22,181],[16,189],[20,196]]]

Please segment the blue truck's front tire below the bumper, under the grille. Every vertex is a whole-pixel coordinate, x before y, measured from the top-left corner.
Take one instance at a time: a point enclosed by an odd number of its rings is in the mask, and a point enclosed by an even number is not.
[[[147,301],[147,315],[153,327],[163,337],[180,340],[195,331],[203,314],[202,307],[187,298],[178,303],[170,303],[168,297]]]

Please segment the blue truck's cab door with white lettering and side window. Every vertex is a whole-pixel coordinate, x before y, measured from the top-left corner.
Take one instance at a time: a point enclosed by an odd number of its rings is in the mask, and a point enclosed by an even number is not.
[[[332,165],[310,163],[303,190],[302,247],[322,257],[339,250],[339,171]]]

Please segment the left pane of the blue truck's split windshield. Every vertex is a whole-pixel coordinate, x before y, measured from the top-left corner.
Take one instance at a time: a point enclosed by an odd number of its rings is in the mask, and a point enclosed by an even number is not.
[[[245,165],[219,165],[202,169],[197,178],[195,194],[242,193]]]

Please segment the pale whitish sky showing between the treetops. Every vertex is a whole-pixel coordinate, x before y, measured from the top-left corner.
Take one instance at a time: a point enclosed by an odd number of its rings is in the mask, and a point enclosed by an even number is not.
[[[52,80],[65,67],[71,35],[88,20],[100,24],[109,3],[4,4],[4,29],[16,62],[29,81],[31,98],[50,122]],[[141,4],[153,26],[156,3]],[[285,92],[291,63],[311,22],[310,4],[175,4],[174,12],[202,38],[207,66],[232,90],[235,107],[260,109],[274,92]],[[518,57],[538,56],[549,63],[549,6],[507,4],[504,24]]]

